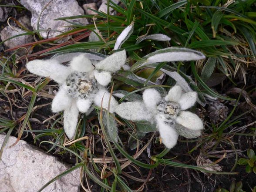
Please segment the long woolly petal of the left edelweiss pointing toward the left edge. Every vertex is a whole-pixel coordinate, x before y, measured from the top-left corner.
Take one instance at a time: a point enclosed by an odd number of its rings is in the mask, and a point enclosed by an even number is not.
[[[50,77],[59,84],[65,82],[71,73],[69,67],[65,67],[56,60],[34,60],[27,63],[27,69],[41,77]]]

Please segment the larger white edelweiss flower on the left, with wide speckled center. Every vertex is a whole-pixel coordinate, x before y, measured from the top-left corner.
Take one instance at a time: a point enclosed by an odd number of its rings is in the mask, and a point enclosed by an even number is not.
[[[57,60],[34,60],[27,63],[27,69],[41,77],[50,77],[60,84],[52,102],[52,111],[64,110],[64,130],[68,138],[74,138],[79,111],[85,113],[94,103],[108,108],[109,92],[105,88],[111,81],[111,73],[124,64],[126,52],[116,52],[103,61],[92,62],[81,54],[74,57],[68,67]],[[94,67],[95,66],[95,67]],[[111,97],[110,112],[115,111],[118,102]]]

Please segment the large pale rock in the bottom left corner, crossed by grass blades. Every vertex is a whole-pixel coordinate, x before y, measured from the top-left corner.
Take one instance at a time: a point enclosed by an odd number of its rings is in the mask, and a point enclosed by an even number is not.
[[[0,146],[5,135],[0,135]],[[10,136],[0,161],[0,192],[36,192],[55,176],[66,171],[67,165],[54,156],[38,151],[17,138]],[[43,192],[80,191],[80,170],[65,175],[51,183]]]

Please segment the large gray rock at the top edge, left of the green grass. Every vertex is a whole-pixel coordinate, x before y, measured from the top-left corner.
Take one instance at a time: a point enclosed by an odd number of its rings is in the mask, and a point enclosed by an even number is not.
[[[32,13],[31,25],[34,30],[37,30],[37,20],[41,11],[49,2],[49,0],[20,0],[20,3]],[[70,27],[67,27],[70,24],[66,21],[54,19],[83,14],[84,10],[79,7],[76,0],[53,0],[51,1],[51,3],[48,4],[46,9],[41,14],[39,29],[45,31],[40,32],[40,35],[43,38],[47,38],[48,32],[46,30],[48,30],[49,28],[51,28],[51,30],[48,37],[55,37],[61,34],[61,32],[66,32],[71,29]],[[84,25],[88,24],[86,18],[74,19],[70,21],[81,23]]]

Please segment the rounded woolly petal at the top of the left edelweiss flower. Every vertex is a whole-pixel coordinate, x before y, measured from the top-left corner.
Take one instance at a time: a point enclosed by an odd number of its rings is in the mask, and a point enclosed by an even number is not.
[[[91,61],[84,56],[84,54],[74,57],[70,62],[70,67],[74,71],[79,72],[89,72],[94,70],[94,66],[91,64]]]

